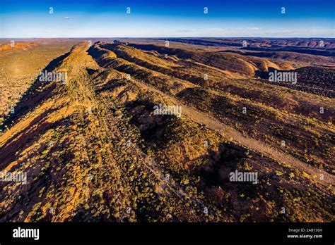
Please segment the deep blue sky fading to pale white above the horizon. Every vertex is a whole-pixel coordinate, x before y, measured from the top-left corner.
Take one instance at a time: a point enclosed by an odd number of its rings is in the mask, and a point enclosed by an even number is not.
[[[0,37],[334,38],[334,9],[335,0],[1,1]]]

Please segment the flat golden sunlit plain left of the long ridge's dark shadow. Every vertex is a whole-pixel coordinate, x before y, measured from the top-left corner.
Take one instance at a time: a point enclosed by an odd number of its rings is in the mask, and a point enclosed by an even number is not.
[[[40,71],[72,45],[14,42],[0,46],[0,118],[18,103]]]

